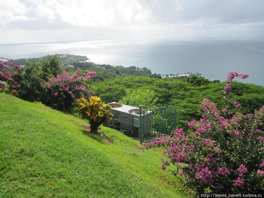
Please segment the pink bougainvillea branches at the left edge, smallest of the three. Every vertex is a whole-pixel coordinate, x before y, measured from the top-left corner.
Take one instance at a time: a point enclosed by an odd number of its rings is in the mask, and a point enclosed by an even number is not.
[[[21,70],[21,68],[15,64],[9,62],[9,61],[12,61],[12,59],[0,57],[0,60],[1,59],[5,60],[5,61],[0,62],[0,88],[3,89],[4,91],[6,91],[6,89],[9,88],[9,87],[5,86],[5,84],[3,82],[6,82],[7,84],[11,85],[13,88],[19,88],[21,85],[18,84],[17,82],[14,82],[14,80],[11,78],[11,73],[10,73],[10,72],[12,72],[12,73],[17,75],[17,72],[10,69],[9,66],[11,66],[17,70]]]

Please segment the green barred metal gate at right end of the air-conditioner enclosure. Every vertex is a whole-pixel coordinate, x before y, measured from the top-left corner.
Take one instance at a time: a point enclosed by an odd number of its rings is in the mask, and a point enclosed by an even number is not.
[[[140,107],[140,143],[157,140],[166,134],[166,106],[154,109]]]

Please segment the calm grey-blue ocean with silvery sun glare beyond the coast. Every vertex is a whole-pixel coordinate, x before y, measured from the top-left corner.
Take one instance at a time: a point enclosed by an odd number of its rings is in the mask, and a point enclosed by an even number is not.
[[[248,74],[241,82],[264,86],[264,40],[185,39],[174,41],[99,40],[0,44],[0,57],[12,59],[68,53],[96,64],[147,67],[161,75],[200,73],[209,80],[229,72]]]

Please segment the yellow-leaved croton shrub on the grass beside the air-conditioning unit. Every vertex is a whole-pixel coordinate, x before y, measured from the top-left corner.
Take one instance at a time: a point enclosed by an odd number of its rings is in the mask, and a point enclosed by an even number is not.
[[[80,98],[77,103],[79,105],[78,110],[81,111],[81,118],[89,121],[92,132],[97,132],[98,127],[105,119],[109,119],[112,116],[110,105],[102,102],[97,96],[89,99]]]

